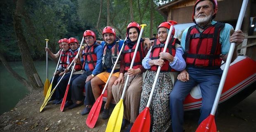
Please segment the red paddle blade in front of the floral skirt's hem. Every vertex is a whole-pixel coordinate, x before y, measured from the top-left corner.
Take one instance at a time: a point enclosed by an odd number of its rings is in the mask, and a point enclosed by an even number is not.
[[[146,107],[136,118],[130,132],[149,132],[150,120],[149,108]]]

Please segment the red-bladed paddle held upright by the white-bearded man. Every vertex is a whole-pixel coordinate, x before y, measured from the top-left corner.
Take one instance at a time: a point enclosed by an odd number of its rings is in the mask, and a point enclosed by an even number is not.
[[[241,10],[240,10],[240,13],[239,13],[239,16],[238,16],[238,20],[237,20],[237,25],[235,27],[235,31],[237,31],[241,28],[242,21],[243,21],[243,18],[244,18],[244,12],[245,12],[247,3],[248,3],[248,0],[243,0],[242,7],[241,7]],[[216,132],[217,131],[214,116],[215,116],[215,113],[216,113],[216,110],[217,110],[217,107],[218,107],[218,103],[219,103],[219,100],[220,100],[220,95],[221,95],[221,92],[223,90],[225,80],[226,80],[226,77],[227,77],[227,74],[228,74],[228,69],[229,69],[230,62],[231,62],[231,59],[232,59],[232,56],[233,56],[233,53],[234,53],[234,50],[235,50],[235,45],[236,45],[235,42],[232,42],[231,45],[230,45],[230,49],[229,49],[229,52],[228,52],[228,57],[227,57],[227,60],[225,62],[225,67],[224,67],[224,70],[223,70],[223,73],[222,73],[222,76],[221,76],[221,79],[220,79],[220,85],[218,87],[218,91],[217,91],[215,100],[213,102],[213,107],[211,109],[211,113],[197,127],[196,132]]]

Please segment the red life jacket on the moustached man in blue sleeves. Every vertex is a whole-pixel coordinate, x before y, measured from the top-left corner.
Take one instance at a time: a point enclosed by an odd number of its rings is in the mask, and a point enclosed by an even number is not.
[[[91,47],[85,47],[83,53],[83,69],[85,68],[85,63],[88,64],[90,71],[93,71],[96,63],[97,63],[97,54],[94,52],[95,47],[99,46],[100,44],[94,44]]]

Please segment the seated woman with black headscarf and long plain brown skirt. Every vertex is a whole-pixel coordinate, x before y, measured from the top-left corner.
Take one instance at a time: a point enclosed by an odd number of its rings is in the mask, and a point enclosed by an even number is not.
[[[127,121],[129,122],[129,125],[124,132],[130,132],[130,128],[135,122],[137,115],[139,115],[140,94],[142,90],[142,72],[145,71],[142,66],[142,59],[147,54],[147,49],[143,47],[143,39],[140,40],[133,68],[131,69],[130,64],[137,45],[136,43],[140,34],[140,29],[140,25],[136,22],[131,22],[127,26],[127,40],[124,42],[125,47],[122,54],[123,59],[120,64],[120,74],[119,78],[112,86],[114,100],[119,102],[125,85],[123,82],[126,81],[127,75],[130,76],[123,101],[124,114],[121,129],[126,126]]]

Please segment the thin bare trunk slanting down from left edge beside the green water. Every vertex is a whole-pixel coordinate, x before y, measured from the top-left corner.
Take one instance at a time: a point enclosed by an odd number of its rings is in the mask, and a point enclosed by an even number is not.
[[[11,73],[14,78],[16,78],[19,82],[25,85],[30,92],[32,92],[32,87],[30,83],[28,83],[25,78],[21,77],[17,72],[12,69],[12,67],[7,63],[5,57],[2,54],[0,54],[0,60],[2,61],[2,64],[5,66],[7,71],[9,71],[9,73]]]

